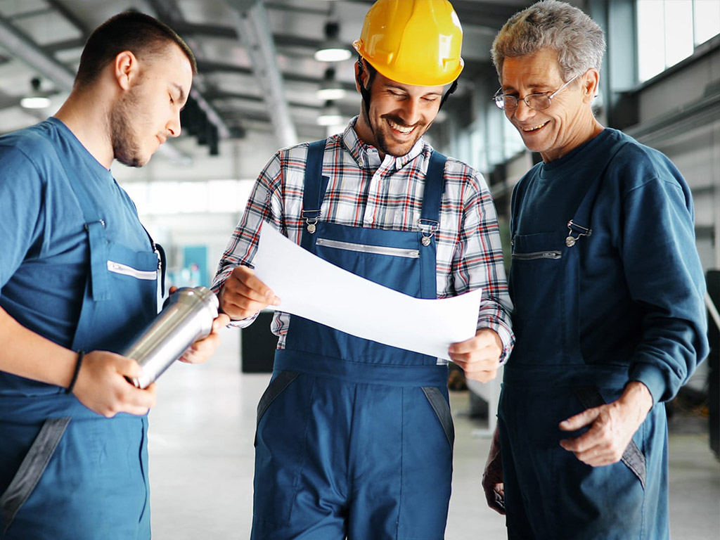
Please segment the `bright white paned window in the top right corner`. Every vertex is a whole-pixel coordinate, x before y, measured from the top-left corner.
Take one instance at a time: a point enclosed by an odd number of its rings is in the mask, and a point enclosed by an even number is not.
[[[719,0],[637,0],[636,6],[640,82],[720,34]]]

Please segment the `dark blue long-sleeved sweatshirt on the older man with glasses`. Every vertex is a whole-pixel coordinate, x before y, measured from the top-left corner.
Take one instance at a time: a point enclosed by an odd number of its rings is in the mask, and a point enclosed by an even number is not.
[[[608,163],[618,143],[624,145]],[[592,241],[576,246],[582,357],[587,364],[626,364],[630,379],[644,382],[654,400],[668,400],[708,352],[693,203],[670,160],[622,132],[603,130],[523,176],[513,192],[513,233],[557,231],[564,238],[600,173]],[[521,230],[514,230],[518,224]],[[512,287],[510,294],[514,305],[532,305],[532,299],[515,297]],[[541,312],[535,320],[552,324]],[[514,329],[521,340],[522,328]]]

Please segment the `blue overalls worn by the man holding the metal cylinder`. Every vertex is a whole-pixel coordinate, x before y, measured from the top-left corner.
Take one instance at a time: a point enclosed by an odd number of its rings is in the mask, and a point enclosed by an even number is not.
[[[137,214],[128,220],[135,212],[129,199],[122,208],[99,207],[82,180],[86,171],[78,170],[82,163],[68,161],[61,150],[58,156],[77,179],[71,184],[89,246],[71,348],[121,351],[156,315],[158,255]],[[123,234],[135,235],[135,245],[140,239],[147,250],[123,245]],[[37,279],[47,271],[38,270]],[[17,464],[0,498],[0,538],[149,539],[147,417],[104,418],[63,388],[17,377],[17,386],[23,385],[26,395],[0,397],[1,454],[5,464]]]

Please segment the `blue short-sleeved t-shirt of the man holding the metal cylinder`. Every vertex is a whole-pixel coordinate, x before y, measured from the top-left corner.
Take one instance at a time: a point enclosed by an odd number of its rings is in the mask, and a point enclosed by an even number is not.
[[[109,241],[152,251],[150,239],[130,197],[60,120],[0,137],[0,171],[0,306],[70,347],[89,272],[85,219],[72,183],[84,184]],[[9,380],[0,372],[0,389]]]

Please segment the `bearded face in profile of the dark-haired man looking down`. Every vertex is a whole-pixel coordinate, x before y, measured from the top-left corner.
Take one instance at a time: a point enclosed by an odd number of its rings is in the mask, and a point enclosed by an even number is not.
[[[138,80],[110,113],[114,158],[141,167],[168,137],[180,135],[180,111],[192,85],[192,66],[175,44],[165,55],[145,60]]]

